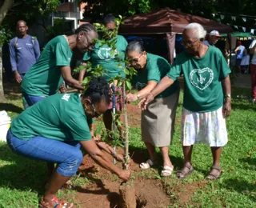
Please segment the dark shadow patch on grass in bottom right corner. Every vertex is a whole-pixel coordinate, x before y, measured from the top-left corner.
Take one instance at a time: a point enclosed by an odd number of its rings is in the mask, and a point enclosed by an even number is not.
[[[235,178],[227,179],[224,182],[224,187],[227,190],[233,190],[239,194],[246,195],[247,198],[256,202],[256,189],[255,184],[247,182],[246,180]]]

